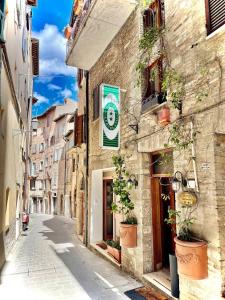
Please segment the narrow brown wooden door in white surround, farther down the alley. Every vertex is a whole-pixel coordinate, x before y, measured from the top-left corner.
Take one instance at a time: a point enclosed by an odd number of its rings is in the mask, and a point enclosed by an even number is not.
[[[113,238],[113,180],[103,180],[103,240]]]

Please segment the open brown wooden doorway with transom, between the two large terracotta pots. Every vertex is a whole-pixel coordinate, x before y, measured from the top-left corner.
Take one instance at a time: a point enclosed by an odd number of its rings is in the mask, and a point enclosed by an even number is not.
[[[169,268],[169,254],[175,251],[174,236],[171,225],[166,224],[168,209],[175,208],[175,196],[171,185],[172,166],[167,162],[163,166],[161,154],[152,156],[152,224],[154,271]],[[170,152],[169,155],[172,153]]]

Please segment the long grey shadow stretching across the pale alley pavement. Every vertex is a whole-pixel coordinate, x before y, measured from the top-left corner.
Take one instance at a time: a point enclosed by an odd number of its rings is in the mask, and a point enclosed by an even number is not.
[[[72,223],[72,224],[71,224]],[[52,232],[40,232],[55,245],[52,246],[56,255],[65,264],[80,286],[86,291],[91,299],[102,293],[102,285],[96,274],[110,273],[112,265],[87,249],[75,235],[74,222],[61,217],[53,217],[44,221],[43,224]],[[106,266],[108,264],[108,267]],[[104,274],[103,274],[104,273]],[[109,291],[110,299],[114,299],[115,293]]]

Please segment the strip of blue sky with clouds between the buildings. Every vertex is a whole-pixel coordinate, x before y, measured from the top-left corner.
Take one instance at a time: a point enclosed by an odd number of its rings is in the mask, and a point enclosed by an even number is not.
[[[65,64],[64,27],[69,23],[73,0],[38,0],[33,8],[33,36],[40,41],[40,75],[34,79],[34,96],[39,101],[33,115],[49,106],[77,99],[76,69]]]

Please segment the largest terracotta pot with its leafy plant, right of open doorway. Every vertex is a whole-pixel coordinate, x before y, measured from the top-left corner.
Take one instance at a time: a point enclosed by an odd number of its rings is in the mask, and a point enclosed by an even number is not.
[[[191,225],[195,218],[192,217],[193,208],[182,206],[183,211],[168,210],[167,224],[176,225],[177,237],[176,257],[178,262],[178,273],[193,280],[205,279],[208,277],[207,243],[194,237]],[[174,227],[174,226],[172,226]]]

